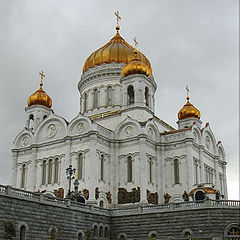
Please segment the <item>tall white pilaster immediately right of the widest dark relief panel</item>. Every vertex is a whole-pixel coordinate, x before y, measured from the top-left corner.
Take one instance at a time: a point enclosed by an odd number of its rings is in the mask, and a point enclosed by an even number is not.
[[[140,202],[147,203],[147,186],[148,186],[148,161],[146,156],[146,138],[139,139],[139,180],[140,180]]]

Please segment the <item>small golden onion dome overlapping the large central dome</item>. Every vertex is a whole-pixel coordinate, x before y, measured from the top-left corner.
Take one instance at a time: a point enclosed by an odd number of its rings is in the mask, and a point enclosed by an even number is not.
[[[122,76],[127,77],[132,74],[144,74],[147,77],[151,76],[151,72],[147,64],[137,58],[137,51],[135,51],[135,58],[133,58],[127,65],[122,69]]]

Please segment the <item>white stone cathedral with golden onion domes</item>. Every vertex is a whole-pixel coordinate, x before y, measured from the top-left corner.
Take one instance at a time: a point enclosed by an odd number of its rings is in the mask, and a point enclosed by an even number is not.
[[[70,122],[51,109],[41,73],[14,141],[12,185],[65,197],[72,165],[84,201],[101,207],[227,199],[222,143],[188,94],[177,129],[155,116],[151,64],[119,30],[85,61]]]

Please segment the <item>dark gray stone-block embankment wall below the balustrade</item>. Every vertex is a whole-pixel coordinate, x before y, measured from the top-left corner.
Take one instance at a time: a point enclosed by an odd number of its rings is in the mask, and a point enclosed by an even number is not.
[[[71,205],[71,206],[70,206]],[[153,213],[126,213],[124,216],[111,215],[101,212],[101,209],[91,210],[89,206],[79,206],[73,203],[56,203],[0,195],[0,239],[4,239],[3,222],[12,222],[19,239],[18,226],[26,223],[27,240],[50,239],[52,226],[57,228],[57,240],[77,240],[77,232],[92,229],[94,224],[108,226],[109,238],[117,240],[121,233],[126,234],[127,240],[148,240],[149,233],[155,231],[159,240],[183,237],[183,231],[190,229],[193,239],[206,237],[222,237],[229,224],[239,223],[240,209],[231,206],[199,207],[160,210]],[[99,211],[99,212],[97,212]],[[201,230],[202,232],[200,232]]]

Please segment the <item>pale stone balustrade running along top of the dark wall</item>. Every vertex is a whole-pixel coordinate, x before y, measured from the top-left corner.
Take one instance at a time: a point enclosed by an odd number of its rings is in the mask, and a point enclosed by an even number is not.
[[[240,207],[240,201],[238,200],[211,200],[207,199],[204,201],[195,202],[180,202],[180,203],[168,203],[163,205],[135,205],[122,208],[105,209],[94,205],[88,205],[73,201],[67,198],[56,198],[49,195],[44,195],[40,192],[30,192],[13,188],[11,186],[0,185],[0,195],[12,196],[18,199],[32,200],[40,203],[49,205],[57,205],[62,207],[68,207],[71,209],[81,210],[84,212],[94,212],[101,215],[121,216],[130,214],[142,214],[142,213],[153,213],[153,212],[167,212],[174,210],[183,209],[196,209],[196,208],[229,208],[229,207]]]

